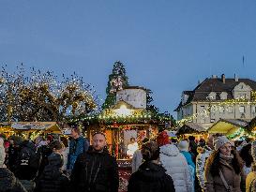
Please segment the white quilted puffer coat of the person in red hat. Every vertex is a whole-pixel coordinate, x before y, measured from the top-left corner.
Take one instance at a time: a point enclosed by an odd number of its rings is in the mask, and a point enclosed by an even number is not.
[[[166,173],[172,177],[176,191],[192,191],[187,160],[175,145],[167,144],[160,147],[160,162]]]

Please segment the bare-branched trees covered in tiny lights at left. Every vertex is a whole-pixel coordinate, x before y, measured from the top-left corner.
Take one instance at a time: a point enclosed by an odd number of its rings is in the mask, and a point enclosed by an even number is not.
[[[65,122],[97,109],[98,97],[75,73],[68,78],[63,75],[59,81],[52,71],[31,68],[29,75],[26,72],[23,65],[13,74],[2,67],[1,122]]]

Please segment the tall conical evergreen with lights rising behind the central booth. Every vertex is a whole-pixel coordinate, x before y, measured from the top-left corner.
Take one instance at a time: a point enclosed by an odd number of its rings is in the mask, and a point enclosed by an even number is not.
[[[108,86],[106,88],[107,97],[102,105],[102,109],[108,109],[115,103],[116,92],[128,86],[128,76],[124,64],[117,61],[113,64],[113,72],[109,75]]]

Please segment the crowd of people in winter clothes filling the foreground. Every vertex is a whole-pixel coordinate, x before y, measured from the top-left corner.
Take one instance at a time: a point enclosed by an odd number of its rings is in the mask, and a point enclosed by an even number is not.
[[[23,140],[0,136],[0,192],[117,192],[116,159],[98,132],[92,145],[71,130],[65,137]],[[132,155],[128,192],[256,191],[256,141],[144,139]]]

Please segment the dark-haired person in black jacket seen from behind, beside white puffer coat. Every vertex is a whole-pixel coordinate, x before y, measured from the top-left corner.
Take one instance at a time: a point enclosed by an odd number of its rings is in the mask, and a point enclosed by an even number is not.
[[[128,181],[128,192],[174,192],[173,179],[159,164],[158,143],[149,141],[142,147],[143,164],[132,173]]]

